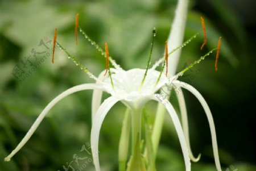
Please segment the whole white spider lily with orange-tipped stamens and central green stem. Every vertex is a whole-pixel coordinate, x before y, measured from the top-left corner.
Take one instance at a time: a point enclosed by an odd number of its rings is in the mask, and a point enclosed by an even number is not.
[[[77,15],[78,18],[78,15]],[[76,22],[77,26],[77,22]],[[78,26],[77,26],[78,27]],[[77,28],[76,28],[77,31]],[[84,37],[92,43],[96,47],[98,51],[103,53],[104,51],[92,41],[88,35],[85,34],[84,31],[80,28],[80,32],[84,35]],[[76,33],[77,35],[77,33]],[[197,34],[196,34],[197,35]],[[186,136],[183,132],[183,127],[181,126],[180,120],[177,116],[177,113],[172,106],[172,104],[162,97],[162,95],[158,94],[158,91],[168,85],[172,85],[175,87],[183,87],[184,89],[187,89],[188,91],[191,91],[192,94],[194,94],[197,99],[199,99],[200,103],[202,104],[209,123],[210,123],[210,131],[212,134],[212,141],[213,141],[213,149],[214,149],[214,157],[216,159],[216,166],[217,169],[220,171],[220,161],[218,160],[218,151],[217,151],[217,141],[216,141],[216,133],[214,129],[214,123],[212,119],[212,114],[210,113],[209,107],[207,103],[205,102],[202,95],[191,85],[185,84],[184,82],[178,81],[177,78],[183,75],[184,72],[186,72],[189,68],[193,67],[194,65],[198,64],[201,60],[203,60],[206,56],[210,55],[213,51],[216,51],[219,53],[220,51],[220,45],[218,45],[218,48],[213,49],[212,51],[209,51],[206,55],[200,57],[199,60],[193,62],[193,64],[189,65],[188,68],[185,68],[181,72],[177,73],[174,76],[168,76],[167,74],[163,73],[164,64],[167,62],[168,56],[171,55],[171,53],[174,53],[177,49],[182,48],[185,44],[190,42],[192,39],[195,39],[195,36],[191,37],[191,39],[187,40],[183,45],[180,47],[177,47],[174,49],[174,51],[171,51],[170,53],[166,52],[166,56],[160,59],[155,63],[152,68],[149,68],[150,65],[150,58],[151,58],[151,52],[152,52],[152,46],[150,51],[150,56],[147,63],[146,69],[130,69],[130,70],[123,70],[119,65],[115,63],[115,61],[109,56],[109,50],[108,45],[105,44],[105,57],[106,57],[106,70],[103,70],[99,77],[95,77],[92,73],[89,72],[87,68],[82,66],[82,64],[75,59],[72,55],[70,55],[57,41],[57,30],[55,30],[55,42],[57,46],[59,46],[60,49],[62,49],[65,53],[67,53],[69,59],[71,59],[77,66],[79,66],[82,70],[84,70],[90,78],[93,78],[93,80],[96,81],[95,84],[81,84],[74,87],[71,87],[70,89],[64,91],[63,93],[59,94],[57,97],[55,97],[51,102],[48,103],[46,108],[41,112],[41,114],[38,116],[34,124],[32,124],[30,130],[27,132],[27,134],[24,136],[22,141],[18,144],[18,146],[10,153],[9,156],[5,158],[5,161],[10,161],[11,157],[15,155],[16,152],[18,152],[24,144],[27,143],[27,141],[30,139],[32,134],[34,134],[36,128],[38,128],[39,124],[42,122],[44,116],[48,113],[49,110],[53,106],[56,105],[57,102],[59,102],[61,99],[67,97],[70,94],[76,93],[77,91],[82,90],[93,90],[93,99],[92,99],[92,130],[91,130],[91,145],[92,145],[92,155],[93,155],[93,161],[94,165],[97,171],[100,171],[100,161],[98,157],[98,141],[100,136],[100,130],[102,123],[104,122],[105,116],[108,114],[109,110],[115,105],[117,102],[122,102],[123,105],[125,105],[131,114],[131,127],[132,127],[132,156],[130,159],[130,162],[128,164],[127,170],[134,170],[134,168],[139,170],[146,170],[146,166],[143,162],[143,159],[141,157],[141,149],[139,145],[141,144],[141,119],[142,119],[142,109],[144,105],[148,101],[156,101],[159,103],[162,103],[162,105],[165,107],[165,109],[168,111],[168,114],[170,115],[172,122],[174,123],[175,130],[177,132],[177,136],[180,141],[181,151],[183,153],[184,162],[185,162],[185,170],[190,171],[191,170],[191,162],[189,158],[189,147],[186,140]],[[153,31],[153,39],[152,44],[154,42],[155,32]],[[219,43],[220,44],[220,43]],[[53,47],[55,49],[55,47]],[[54,51],[54,50],[53,50]],[[166,48],[166,51],[167,48]],[[218,54],[217,53],[217,54]],[[217,55],[218,56],[218,55]],[[166,59],[166,60],[164,60]],[[110,68],[108,65],[108,61],[112,63],[114,68]],[[53,61],[52,61],[53,62]],[[156,70],[156,67],[163,62],[163,68],[161,71]],[[217,65],[217,64],[216,64]],[[102,92],[105,91],[106,93],[110,94],[110,97],[105,99],[101,103],[101,95]],[[181,99],[182,100],[182,99]]]

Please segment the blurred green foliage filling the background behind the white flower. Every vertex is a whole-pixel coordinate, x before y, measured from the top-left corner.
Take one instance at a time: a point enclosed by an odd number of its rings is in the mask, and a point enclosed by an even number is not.
[[[179,70],[216,47],[222,36],[218,72],[214,72],[214,55],[207,57],[188,77],[181,80],[195,86],[207,99],[216,123],[220,159],[223,168],[230,165],[243,171],[256,170],[253,108],[255,99],[255,34],[247,36],[253,24],[246,25],[228,1],[191,1],[185,39],[201,30],[200,16],[207,24],[208,44],[200,51],[203,36],[183,48]],[[176,7],[174,0],[143,1],[0,1],[0,170],[64,170],[73,155],[91,157],[80,152],[90,142],[90,105],[92,91],[70,95],[59,102],[40,124],[28,143],[10,162],[4,162],[11,150],[26,134],[38,114],[57,94],[69,87],[93,82],[69,61],[60,50],[51,64],[49,49],[40,41],[52,39],[58,28],[58,41],[70,53],[98,75],[104,70],[105,59],[79,35],[75,45],[75,15],[80,26],[103,47],[108,42],[110,55],[124,69],[144,68],[150,49],[150,37],[156,27],[157,37],[152,61],[162,57]],[[255,25],[254,25],[255,26]],[[51,43],[47,44],[51,47]],[[22,82],[14,77],[15,65],[22,66],[28,57],[36,63],[44,59]],[[255,48],[254,48],[255,49]],[[152,62],[153,63],[153,62]],[[23,68],[24,69],[24,68]],[[25,68],[26,69],[26,68]],[[250,76],[252,75],[252,76]],[[105,94],[105,97],[107,95]],[[207,119],[199,103],[186,94],[191,128],[192,150],[202,153],[192,170],[215,170]],[[172,99],[176,103],[176,99]],[[154,122],[155,103],[147,111]],[[179,110],[179,109],[177,109]],[[102,125],[100,161],[102,170],[117,170],[118,143],[125,107],[120,103],[110,110]],[[166,118],[157,156],[158,170],[184,170],[179,142],[170,118]],[[80,165],[81,166],[81,165]],[[79,169],[79,168],[76,168]],[[92,162],[84,170],[94,170]],[[230,169],[231,170],[231,169]]]

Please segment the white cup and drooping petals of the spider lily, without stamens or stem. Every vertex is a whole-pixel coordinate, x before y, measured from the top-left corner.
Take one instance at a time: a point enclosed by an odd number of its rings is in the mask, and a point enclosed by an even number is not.
[[[14,151],[11,152],[11,154],[6,157],[5,161],[9,161],[11,157],[13,157],[15,153],[18,152],[19,149],[22,148],[24,144],[26,144],[28,139],[30,139],[32,134],[35,132],[36,128],[39,126],[40,122],[42,122],[44,116],[46,116],[47,112],[57,102],[59,102],[61,99],[63,99],[69,94],[72,94],[81,90],[91,89],[91,90],[105,91],[106,93],[111,94],[111,96],[105,99],[105,101],[100,105],[96,114],[93,116],[91,144],[92,144],[93,160],[96,166],[96,170],[100,170],[100,164],[99,164],[98,154],[97,154],[98,137],[100,134],[100,128],[101,128],[102,122],[104,121],[106,114],[108,114],[108,111],[118,101],[121,101],[125,106],[129,107],[131,111],[138,111],[138,110],[141,110],[142,107],[145,105],[145,103],[147,103],[150,100],[158,101],[166,107],[168,113],[170,114],[174,122],[174,126],[176,128],[177,135],[180,140],[186,170],[187,171],[191,170],[188,148],[187,148],[185,137],[183,134],[183,129],[181,127],[179,118],[177,117],[176,111],[174,110],[174,107],[171,105],[171,103],[168,102],[166,99],[163,99],[163,97],[160,94],[156,94],[156,91],[158,91],[165,84],[170,84],[170,82],[172,82],[172,84],[176,86],[183,86],[185,89],[188,89],[189,91],[191,91],[193,94],[196,95],[196,97],[202,103],[204,110],[207,112],[210,123],[213,123],[209,107],[207,106],[207,103],[204,101],[204,98],[192,86],[184,84],[183,82],[177,81],[176,80],[177,75],[171,78],[167,78],[164,74],[162,74],[158,84],[156,84],[160,76],[160,72],[154,69],[148,69],[147,76],[144,80],[143,86],[141,87],[142,79],[143,79],[144,73],[146,72],[145,69],[131,69],[131,70],[125,71],[117,68],[117,69],[110,69],[110,72],[112,72],[114,88],[112,86],[110,77],[106,77],[102,81],[97,79],[98,80],[97,84],[81,84],[81,85],[74,86],[71,89],[68,89],[63,93],[61,93],[60,95],[58,95],[55,99],[53,99],[42,111],[38,119],[36,119],[35,123],[31,126],[30,130],[27,132],[23,140],[20,141],[20,143],[14,149]],[[211,128],[213,128],[211,130],[213,137],[216,137],[215,131],[214,131],[214,125],[211,125]]]

